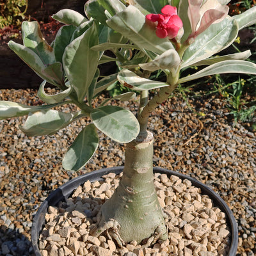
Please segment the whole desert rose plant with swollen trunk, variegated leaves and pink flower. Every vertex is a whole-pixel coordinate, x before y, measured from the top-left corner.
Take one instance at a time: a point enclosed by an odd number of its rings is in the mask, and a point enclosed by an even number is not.
[[[45,42],[37,22],[22,24],[23,45],[10,48],[44,81],[38,97],[42,106],[0,102],[0,117],[28,115],[20,129],[28,136],[54,134],[79,118],[89,116],[63,157],[66,170],[80,170],[97,150],[97,130],[112,140],[127,143],[120,185],[102,205],[97,227],[122,245],[147,239],[152,244],[167,238],[163,212],[153,184],[153,134],[147,130],[148,116],[173,93],[178,84],[222,73],[256,74],[256,65],[246,59],[250,51],[216,55],[237,38],[239,29],[256,22],[256,7],[228,16],[227,0],[90,0],[86,17],[61,10],[52,17],[63,24],[51,45]],[[243,38],[242,38],[243,40]],[[106,54],[111,51],[112,55]],[[115,61],[118,72],[100,77],[99,65]],[[184,68],[202,66],[190,76]],[[161,81],[150,79],[162,72]],[[104,100],[98,95],[116,83],[131,89]],[[59,88],[47,95],[46,83]],[[153,97],[148,91],[154,90]],[[137,92],[134,93],[134,92]],[[138,114],[111,105],[111,100],[140,97]],[[75,104],[79,111],[63,113],[57,106]]]

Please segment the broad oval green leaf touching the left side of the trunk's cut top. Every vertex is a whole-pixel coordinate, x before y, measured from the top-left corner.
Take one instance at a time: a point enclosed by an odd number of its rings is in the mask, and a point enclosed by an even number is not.
[[[140,131],[138,120],[131,111],[117,106],[93,109],[91,118],[100,131],[120,143],[134,140]]]

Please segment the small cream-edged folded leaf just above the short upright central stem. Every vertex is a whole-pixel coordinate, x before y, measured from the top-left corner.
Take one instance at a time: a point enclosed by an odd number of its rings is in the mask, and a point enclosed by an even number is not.
[[[136,75],[127,69],[122,69],[117,76],[118,81],[125,87],[135,91],[152,90],[169,86],[167,83],[153,81]]]

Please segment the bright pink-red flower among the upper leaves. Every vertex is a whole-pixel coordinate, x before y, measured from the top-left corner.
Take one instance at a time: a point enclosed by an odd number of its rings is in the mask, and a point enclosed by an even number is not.
[[[146,15],[146,20],[157,22],[156,35],[160,38],[169,39],[177,36],[183,24],[180,17],[177,15],[177,8],[166,5],[161,10],[162,14],[150,13]]]

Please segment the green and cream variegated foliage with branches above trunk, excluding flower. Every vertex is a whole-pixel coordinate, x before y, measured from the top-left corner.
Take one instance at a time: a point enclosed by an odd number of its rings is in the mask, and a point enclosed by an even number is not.
[[[236,40],[239,29],[256,23],[256,7],[235,17],[227,16],[209,27],[202,24],[204,31],[201,29],[202,33],[196,36],[193,31],[191,40],[189,19],[182,12],[189,2],[173,1],[183,19],[184,35],[170,41],[158,38],[154,28],[145,22],[147,13],[159,13],[168,3],[168,0],[89,0],[84,6],[86,17],[67,9],[52,16],[64,26],[51,44],[45,42],[37,22],[23,22],[23,44],[10,41],[8,45],[44,80],[38,97],[45,104],[24,106],[1,101],[0,118],[28,115],[20,129],[28,136],[39,136],[54,134],[79,118],[90,117],[91,124],[83,127],[63,159],[64,168],[79,170],[97,150],[97,130],[120,143],[136,139],[147,129],[148,115],[168,99],[178,84],[214,74],[256,74],[256,65],[246,61],[250,51],[216,55]],[[108,51],[111,56],[106,54]],[[117,72],[101,77],[99,65],[110,61],[116,63]],[[195,65],[202,68],[183,76],[183,70]],[[156,76],[160,73],[161,81]],[[120,91],[120,95],[93,104],[99,93],[116,81],[132,91]],[[60,92],[48,95],[44,89],[46,83]],[[149,90],[158,93],[149,99]],[[133,91],[141,99],[137,117],[128,109],[110,104],[111,100],[133,99],[136,96]],[[75,104],[79,110],[64,113],[54,109],[64,104]]]

